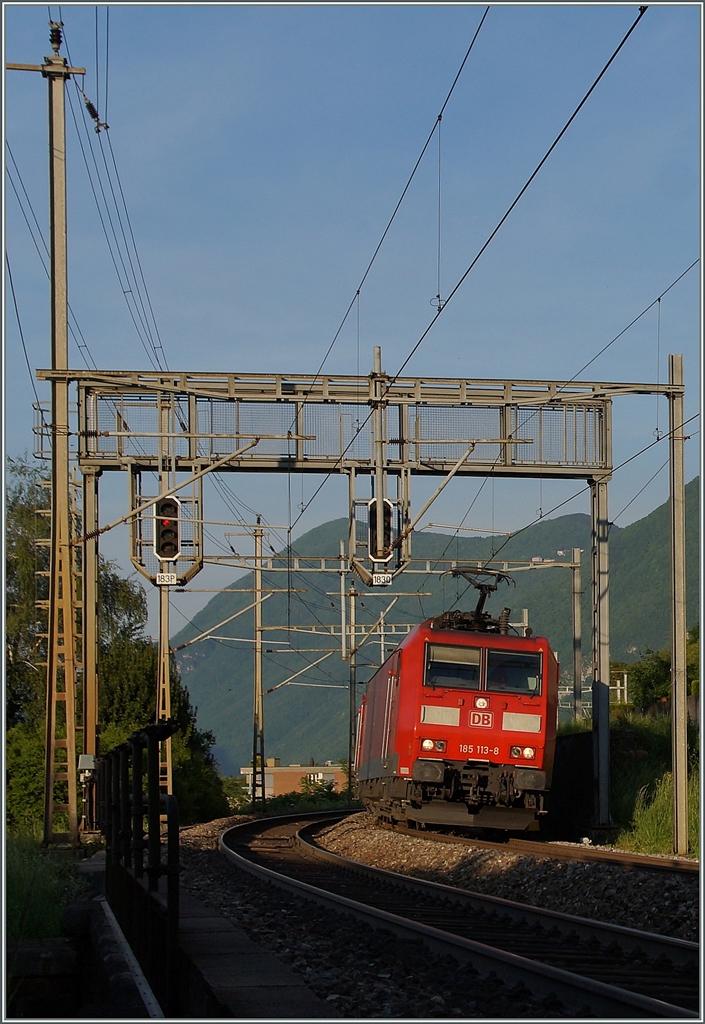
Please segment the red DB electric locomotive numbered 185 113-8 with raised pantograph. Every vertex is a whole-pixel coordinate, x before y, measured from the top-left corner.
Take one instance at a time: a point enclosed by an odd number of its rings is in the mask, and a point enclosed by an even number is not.
[[[558,665],[544,637],[509,634],[508,608],[496,620],[483,611],[507,577],[453,572],[481,591],[478,606],[417,626],[370,680],[358,713],[358,798],[391,821],[537,827]]]

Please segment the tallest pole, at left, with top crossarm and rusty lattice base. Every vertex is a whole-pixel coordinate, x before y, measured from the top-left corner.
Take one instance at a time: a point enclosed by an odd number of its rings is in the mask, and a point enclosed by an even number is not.
[[[38,71],[49,85],[49,255],[51,267],[51,369],[69,369],[67,275],[65,82],[85,75],[58,55],[61,24],[49,22],[53,53],[43,65],[8,63],[10,71]],[[78,682],[77,594],[71,536],[69,478],[69,382],[51,381],[51,561],[46,677],[44,844],[78,843],[76,708]],[[55,830],[57,815],[66,829]]]

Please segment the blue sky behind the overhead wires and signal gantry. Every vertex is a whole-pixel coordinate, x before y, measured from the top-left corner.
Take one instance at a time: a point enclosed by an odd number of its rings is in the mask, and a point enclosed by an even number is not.
[[[60,8],[82,87],[110,124],[164,352],[171,369],[312,372],[330,344],[484,11],[475,4],[115,4]],[[50,7],[53,17],[59,8]],[[497,4],[442,125],[441,293],[448,295],[637,14],[625,4]],[[47,6],[3,6],[5,59],[40,63]],[[699,4],[649,8],[595,92],[448,304],[412,375],[569,379],[699,255]],[[109,33],[107,34],[107,24]],[[96,79],[97,36],[97,79]],[[108,43],[107,43],[108,39]],[[65,51],[66,52],[66,49]],[[106,67],[108,106],[106,111]],[[80,80],[79,80],[80,82]],[[5,138],[44,228],[46,83],[10,72]],[[75,86],[70,83],[75,109]],[[95,362],[146,368],[69,117],[70,301]],[[433,314],[439,150],[429,146],[326,364],[395,372]],[[11,189],[5,245],[33,368],[49,361],[46,276]],[[687,415],[699,410],[696,266],[584,379],[665,380],[682,352]],[[33,393],[5,293],[6,452],[32,446]],[[71,362],[80,366],[74,348]],[[42,398],[48,397],[37,385]],[[658,408],[658,412],[657,412]],[[658,422],[657,422],[658,417]],[[614,408],[614,463],[667,424],[665,402]],[[691,425],[695,431],[698,424]],[[698,472],[700,435],[687,445]],[[615,474],[613,515],[667,458],[665,442]],[[286,484],[231,477],[269,522]],[[303,483],[307,499],[318,481]],[[444,493],[432,521],[516,529],[579,482],[481,481]],[[662,471],[619,525],[667,497]],[[106,481],[103,518],[124,508]],[[416,507],[427,490],[414,492]],[[300,500],[300,499],[299,499]],[[213,518],[222,511],[213,498]],[[588,511],[586,497],[562,510]],[[347,513],[333,480],[303,531]],[[105,551],[124,561],[120,531]],[[204,586],[206,584],[204,583]],[[224,585],[224,583],[220,584]],[[195,595],[194,595],[195,597]]]

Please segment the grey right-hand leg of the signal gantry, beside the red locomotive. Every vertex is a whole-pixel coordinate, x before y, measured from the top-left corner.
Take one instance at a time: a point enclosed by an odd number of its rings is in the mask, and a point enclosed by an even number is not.
[[[610,561],[607,480],[590,480],[592,554],[592,752],[594,820],[610,818]]]

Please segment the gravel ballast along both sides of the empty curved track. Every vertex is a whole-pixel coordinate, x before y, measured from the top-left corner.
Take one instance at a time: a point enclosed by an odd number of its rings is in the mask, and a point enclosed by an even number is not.
[[[509,989],[497,979],[481,981],[471,967],[449,964],[420,942],[373,931],[354,918],[326,910],[238,870],[217,851],[217,841],[225,828],[244,820],[223,818],[181,830],[181,884],[301,974],[312,990],[330,1002],[331,1017],[575,1016],[526,990]],[[390,870],[582,916],[599,916],[597,908],[603,913],[609,908],[605,920],[653,931],[657,931],[656,920],[663,926],[679,918],[677,928],[658,930],[697,938],[696,879],[642,878],[648,872],[599,864],[558,865],[517,854],[458,849],[380,829],[367,814],[331,825],[319,841],[333,852]],[[654,901],[650,907],[649,901]],[[622,920],[630,904],[634,915]],[[693,921],[689,934],[683,934],[686,918]]]

